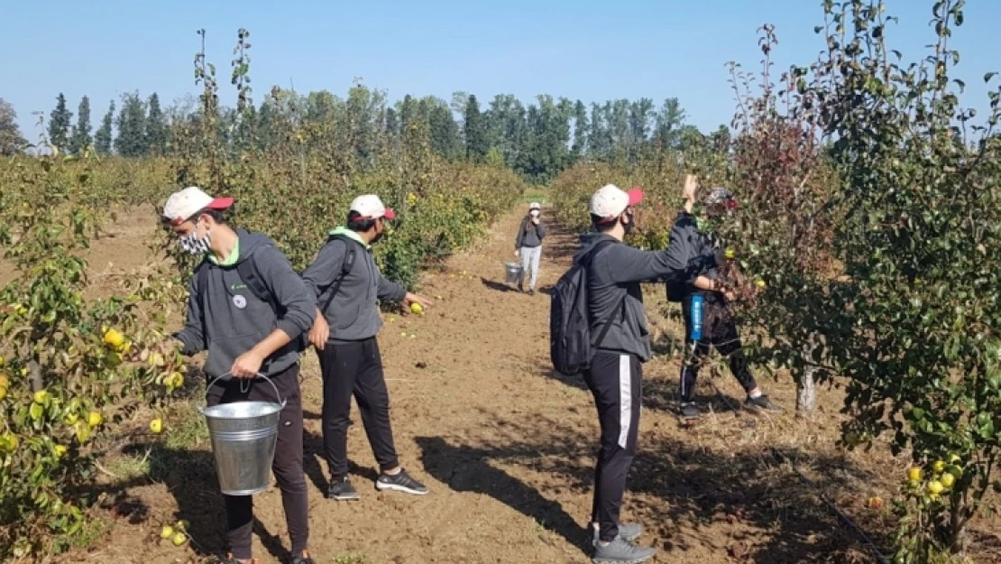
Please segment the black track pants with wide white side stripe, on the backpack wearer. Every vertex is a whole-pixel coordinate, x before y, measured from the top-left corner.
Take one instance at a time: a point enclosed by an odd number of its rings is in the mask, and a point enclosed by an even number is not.
[[[601,539],[611,541],[619,534],[626,477],[636,457],[643,366],[633,355],[599,352],[584,376],[595,397],[602,427],[591,518],[601,526]]]

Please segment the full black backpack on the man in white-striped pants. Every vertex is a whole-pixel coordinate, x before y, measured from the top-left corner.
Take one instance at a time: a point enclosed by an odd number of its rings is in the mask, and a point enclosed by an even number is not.
[[[612,316],[626,302],[626,296],[605,320],[598,339],[592,339],[588,308],[588,264],[598,251],[615,241],[599,242],[580,261],[574,262],[553,289],[550,305],[550,359],[553,368],[566,376],[578,376],[591,367],[595,351],[612,327]],[[628,296],[628,295],[627,295]]]

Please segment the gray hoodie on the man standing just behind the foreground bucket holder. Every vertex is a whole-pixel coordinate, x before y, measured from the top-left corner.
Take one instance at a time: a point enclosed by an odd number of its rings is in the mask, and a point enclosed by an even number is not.
[[[316,304],[322,308],[330,296],[334,278],[340,273],[341,264],[347,257],[348,245],[355,247],[354,265],[340,284],[337,296],[323,313],[323,319],[330,326],[328,343],[363,341],[378,334],[382,328],[382,318],[378,313],[378,301],[402,302],[406,289],[382,277],[372,256],[371,246],[365,244],[354,231],[337,227],[330,231],[330,238],[313,263],[302,272],[302,279]],[[341,237],[348,237],[346,241]]]

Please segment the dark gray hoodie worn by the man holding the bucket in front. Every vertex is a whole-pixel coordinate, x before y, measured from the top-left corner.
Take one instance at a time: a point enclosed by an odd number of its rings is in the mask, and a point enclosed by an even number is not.
[[[203,370],[213,380],[228,375],[237,357],[275,329],[294,340],[312,327],[316,314],[312,294],[267,235],[243,229],[236,234],[233,257],[220,263],[206,257],[198,268],[207,268],[207,273],[191,276],[187,323],[174,335],[184,344],[185,355],[208,351]],[[236,271],[236,264],[251,256],[262,281],[281,306],[280,316],[267,302],[258,300]],[[265,359],[260,372],[265,376],[279,374],[298,359],[299,354],[289,344]]]

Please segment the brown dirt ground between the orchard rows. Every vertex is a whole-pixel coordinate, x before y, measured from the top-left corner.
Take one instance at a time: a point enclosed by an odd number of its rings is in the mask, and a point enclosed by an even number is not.
[[[354,408],[349,453],[361,499],[322,497],[320,382],[309,355],[303,371],[304,440],[310,550],[317,562],[590,562],[584,526],[592,504],[598,422],[583,382],[553,375],[548,349],[546,292],[577,244],[554,226],[544,249],[543,293],[513,292],[504,284],[502,262],[514,259],[519,218],[518,213],[506,217],[479,247],[425,276],[420,293],[436,302],[425,316],[386,316],[379,343],[396,448],[429,495],[375,491],[376,466]],[[136,237],[151,232],[133,227],[122,227],[107,239],[111,246],[95,249],[96,262],[141,263],[137,255],[144,250]],[[667,353],[681,335],[678,324],[662,314],[670,308],[659,289],[651,289],[647,306],[658,350]],[[837,390],[819,391],[820,412],[801,420],[792,413],[792,382],[776,382],[759,371],[766,392],[790,411],[735,413],[727,401],[743,402],[740,387],[726,371],[719,378],[707,371],[701,401],[714,413],[684,429],[673,415],[678,369],[670,354],[645,367],[640,452],[623,508],[624,520],[646,528],[639,542],[659,549],[654,562],[876,562],[819,496],[829,496],[885,545],[894,521],[890,500],[908,461],[882,454],[881,447],[871,453],[837,449]],[[104,516],[107,527],[89,548],[60,560],[202,562],[222,550],[224,516],[208,446],[147,452],[165,470],[155,479],[109,484],[108,491],[118,495]],[[865,500],[877,495],[886,506],[866,507]],[[288,538],[278,491],[257,496],[255,511],[255,556],[262,563],[283,561]],[[158,538],[161,525],[177,519],[191,523],[192,542],[182,548]],[[977,562],[1001,561],[996,548],[1001,543],[984,532],[997,530],[994,525],[978,524]]]

